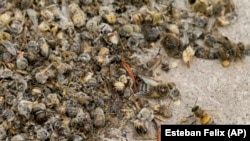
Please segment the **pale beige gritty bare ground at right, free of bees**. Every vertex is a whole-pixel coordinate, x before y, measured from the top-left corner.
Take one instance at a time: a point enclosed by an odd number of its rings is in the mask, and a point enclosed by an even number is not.
[[[232,41],[250,44],[250,0],[234,2],[237,20],[220,31]],[[179,124],[183,117],[191,115],[191,107],[196,100],[196,105],[206,109],[216,124],[250,124],[249,56],[231,63],[227,68],[222,67],[219,60],[194,58],[190,68],[181,60],[164,58],[164,55],[163,60],[170,65],[177,62],[178,67],[168,73],[159,72],[156,78],[175,82],[181,92],[181,103],[171,104],[173,117],[165,124]],[[169,103],[169,100],[160,102]]]

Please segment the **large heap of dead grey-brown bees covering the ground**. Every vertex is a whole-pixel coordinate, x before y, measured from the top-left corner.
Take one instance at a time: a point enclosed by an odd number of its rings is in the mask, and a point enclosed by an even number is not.
[[[126,140],[171,117],[174,82],[160,48],[191,65],[193,57],[227,67],[244,45],[218,32],[237,17],[231,0],[2,0],[0,3],[0,140]],[[199,107],[194,107],[194,111]],[[206,122],[204,122],[205,124]],[[154,127],[154,126],[152,126]]]

